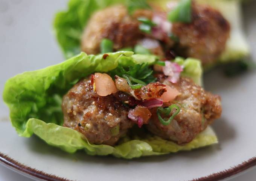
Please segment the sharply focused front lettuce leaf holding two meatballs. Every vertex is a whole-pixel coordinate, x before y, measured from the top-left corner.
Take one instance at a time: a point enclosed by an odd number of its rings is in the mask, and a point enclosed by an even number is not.
[[[62,127],[61,98],[79,79],[93,72],[111,71],[119,64],[129,66],[139,62],[152,65],[155,61],[156,56],[133,55],[133,52],[125,51],[109,53],[106,59],[102,55],[88,56],[81,53],[58,65],[24,72],[10,78],[5,84],[3,99],[9,106],[12,125],[20,136],[30,137],[36,134],[49,145],[70,153],[83,149],[90,155],[111,154],[115,157],[134,158],[190,150],[217,143],[216,135],[207,128],[184,146],[149,133],[145,133],[144,136],[134,134],[134,137],[124,137],[116,146],[93,145],[78,131]],[[201,67],[200,62],[196,61],[177,60],[185,67],[186,76],[200,80],[201,71],[190,71],[193,66],[195,69]]]

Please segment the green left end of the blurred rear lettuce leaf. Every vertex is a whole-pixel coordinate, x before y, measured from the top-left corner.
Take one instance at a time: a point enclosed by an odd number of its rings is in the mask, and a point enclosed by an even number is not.
[[[91,15],[116,3],[125,0],[70,0],[67,11],[55,15],[55,35],[66,58],[81,52],[81,35]]]

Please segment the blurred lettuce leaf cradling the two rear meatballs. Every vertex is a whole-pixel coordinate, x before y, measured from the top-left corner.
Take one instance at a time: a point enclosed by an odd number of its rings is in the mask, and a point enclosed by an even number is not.
[[[148,0],[150,3],[157,3],[157,6],[166,8],[170,0]],[[177,1],[177,0],[172,0]],[[221,55],[218,63],[241,60],[248,56],[249,46],[242,30],[241,3],[236,0],[198,0],[200,3],[207,3],[222,12],[230,22],[232,31],[227,47]],[[67,11],[58,12],[54,19],[54,31],[59,45],[66,58],[80,53],[80,39],[84,27],[91,15],[100,9],[116,3],[127,4],[128,0],[70,0]],[[208,65],[210,68],[213,65]],[[207,68],[206,68],[207,69]]]

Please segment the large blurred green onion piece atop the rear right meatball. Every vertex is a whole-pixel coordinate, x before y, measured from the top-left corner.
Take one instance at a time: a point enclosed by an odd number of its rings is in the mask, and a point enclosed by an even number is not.
[[[192,1],[181,0],[176,8],[169,12],[168,20],[172,23],[190,23],[192,21]]]

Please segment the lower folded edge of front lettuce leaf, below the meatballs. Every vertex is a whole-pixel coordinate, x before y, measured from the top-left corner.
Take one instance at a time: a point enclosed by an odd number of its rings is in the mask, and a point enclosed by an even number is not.
[[[30,137],[36,134],[47,144],[74,153],[84,150],[89,155],[113,155],[118,158],[138,158],[150,155],[163,155],[178,151],[190,151],[192,149],[218,143],[218,139],[209,126],[195,137],[192,142],[180,146],[174,142],[152,136],[148,140],[134,139],[117,146],[90,144],[84,135],[71,128],[62,127],[53,123],[46,123],[40,119],[29,119],[26,130],[21,136]]]

